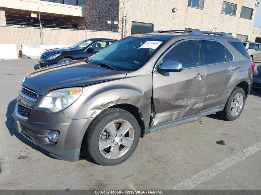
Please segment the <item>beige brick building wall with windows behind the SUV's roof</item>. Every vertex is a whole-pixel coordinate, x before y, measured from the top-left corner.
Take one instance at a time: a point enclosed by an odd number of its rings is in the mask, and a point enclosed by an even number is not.
[[[188,7],[187,2],[188,0],[129,0],[127,35],[131,34],[132,21],[152,23],[154,30],[216,29],[219,32],[232,33],[233,36],[250,35],[252,31],[256,0],[227,0],[237,4],[236,16],[221,14],[222,0],[205,0],[203,10]],[[254,9],[252,20],[239,17],[242,6]],[[177,8],[178,11],[172,13],[172,8]]]

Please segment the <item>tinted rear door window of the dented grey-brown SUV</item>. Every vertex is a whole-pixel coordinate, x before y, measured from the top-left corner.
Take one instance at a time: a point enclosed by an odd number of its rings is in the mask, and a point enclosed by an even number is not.
[[[217,41],[203,40],[205,65],[217,64],[226,61],[224,46]]]

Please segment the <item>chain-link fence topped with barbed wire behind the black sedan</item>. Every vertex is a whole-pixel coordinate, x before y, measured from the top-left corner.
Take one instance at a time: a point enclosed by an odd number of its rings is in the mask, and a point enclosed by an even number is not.
[[[119,24],[112,28],[87,28],[83,17],[40,13],[39,18],[39,14],[31,17],[28,11],[5,11],[5,18],[0,23],[0,44],[15,44],[20,57],[22,44],[74,45],[84,39],[121,39],[123,36]]]

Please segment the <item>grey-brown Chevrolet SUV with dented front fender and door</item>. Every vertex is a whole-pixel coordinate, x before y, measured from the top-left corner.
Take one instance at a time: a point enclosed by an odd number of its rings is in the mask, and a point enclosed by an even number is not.
[[[59,159],[78,161],[82,145],[98,164],[117,165],[149,132],[213,113],[236,120],[251,89],[251,62],[225,33],[128,36],[86,62],[28,73],[14,124]]]

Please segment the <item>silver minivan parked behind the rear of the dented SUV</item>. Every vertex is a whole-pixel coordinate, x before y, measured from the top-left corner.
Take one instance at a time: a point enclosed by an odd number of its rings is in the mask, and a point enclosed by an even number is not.
[[[251,60],[261,61],[261,44],[253,43],[250,41],[243,41],[247,53],[250,55]]]

